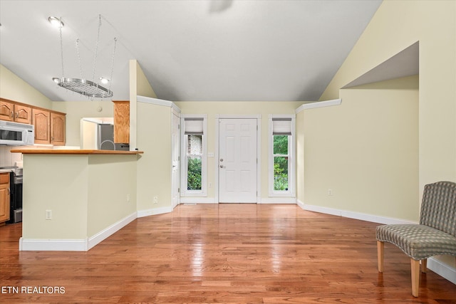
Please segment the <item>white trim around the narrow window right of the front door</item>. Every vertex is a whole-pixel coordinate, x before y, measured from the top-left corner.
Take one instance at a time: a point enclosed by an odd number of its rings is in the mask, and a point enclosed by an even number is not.
[[[288,150],[288,166],[289,166],[289,188],[286,191],[274,190],[274,135],[273,135],[273,122],[276,118],[287,118],[291,119],[291,135],[289,135],[289,150]],[[296,115],[285,114],[285,115],[269,115],[269,160],[268,160],[268,189],[269,196],[285,196],[294,197],[296,196],[296,130],[295,130],[295,119]]]

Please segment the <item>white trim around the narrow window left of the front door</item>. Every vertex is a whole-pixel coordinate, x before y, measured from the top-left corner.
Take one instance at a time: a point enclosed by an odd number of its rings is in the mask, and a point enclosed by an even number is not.
[[[207,114],[180,115],[180,196],[207,196]],[[202,119],[202,155],[201,155],[201,190],[187,190],[187,137],[185,136],[185,118]],[[185,169],[185,170],[184,170]]]

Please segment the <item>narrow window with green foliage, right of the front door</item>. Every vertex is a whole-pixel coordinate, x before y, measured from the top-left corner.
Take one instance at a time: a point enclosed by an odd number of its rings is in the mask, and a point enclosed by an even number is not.
[[[269,131],[269,196],[293,196],[294,117],[272,115]]]

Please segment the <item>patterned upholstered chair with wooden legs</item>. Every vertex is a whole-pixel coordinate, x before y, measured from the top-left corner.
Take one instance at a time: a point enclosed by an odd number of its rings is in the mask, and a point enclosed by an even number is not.
[[[447,254],[456,256],[456,183],[425,185],[420,224],[391,224],[376,229],[378,271],[383,272],[384,242],[393,243],[410,257],[412,294],[418,297],[420,261],[426,271],[426,259]]]

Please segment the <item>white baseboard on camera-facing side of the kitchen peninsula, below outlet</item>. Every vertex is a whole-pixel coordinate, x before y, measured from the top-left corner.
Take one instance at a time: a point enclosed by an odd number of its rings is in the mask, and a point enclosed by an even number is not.
[[[19,251],[88,251],[87,239],[19,239]]]

